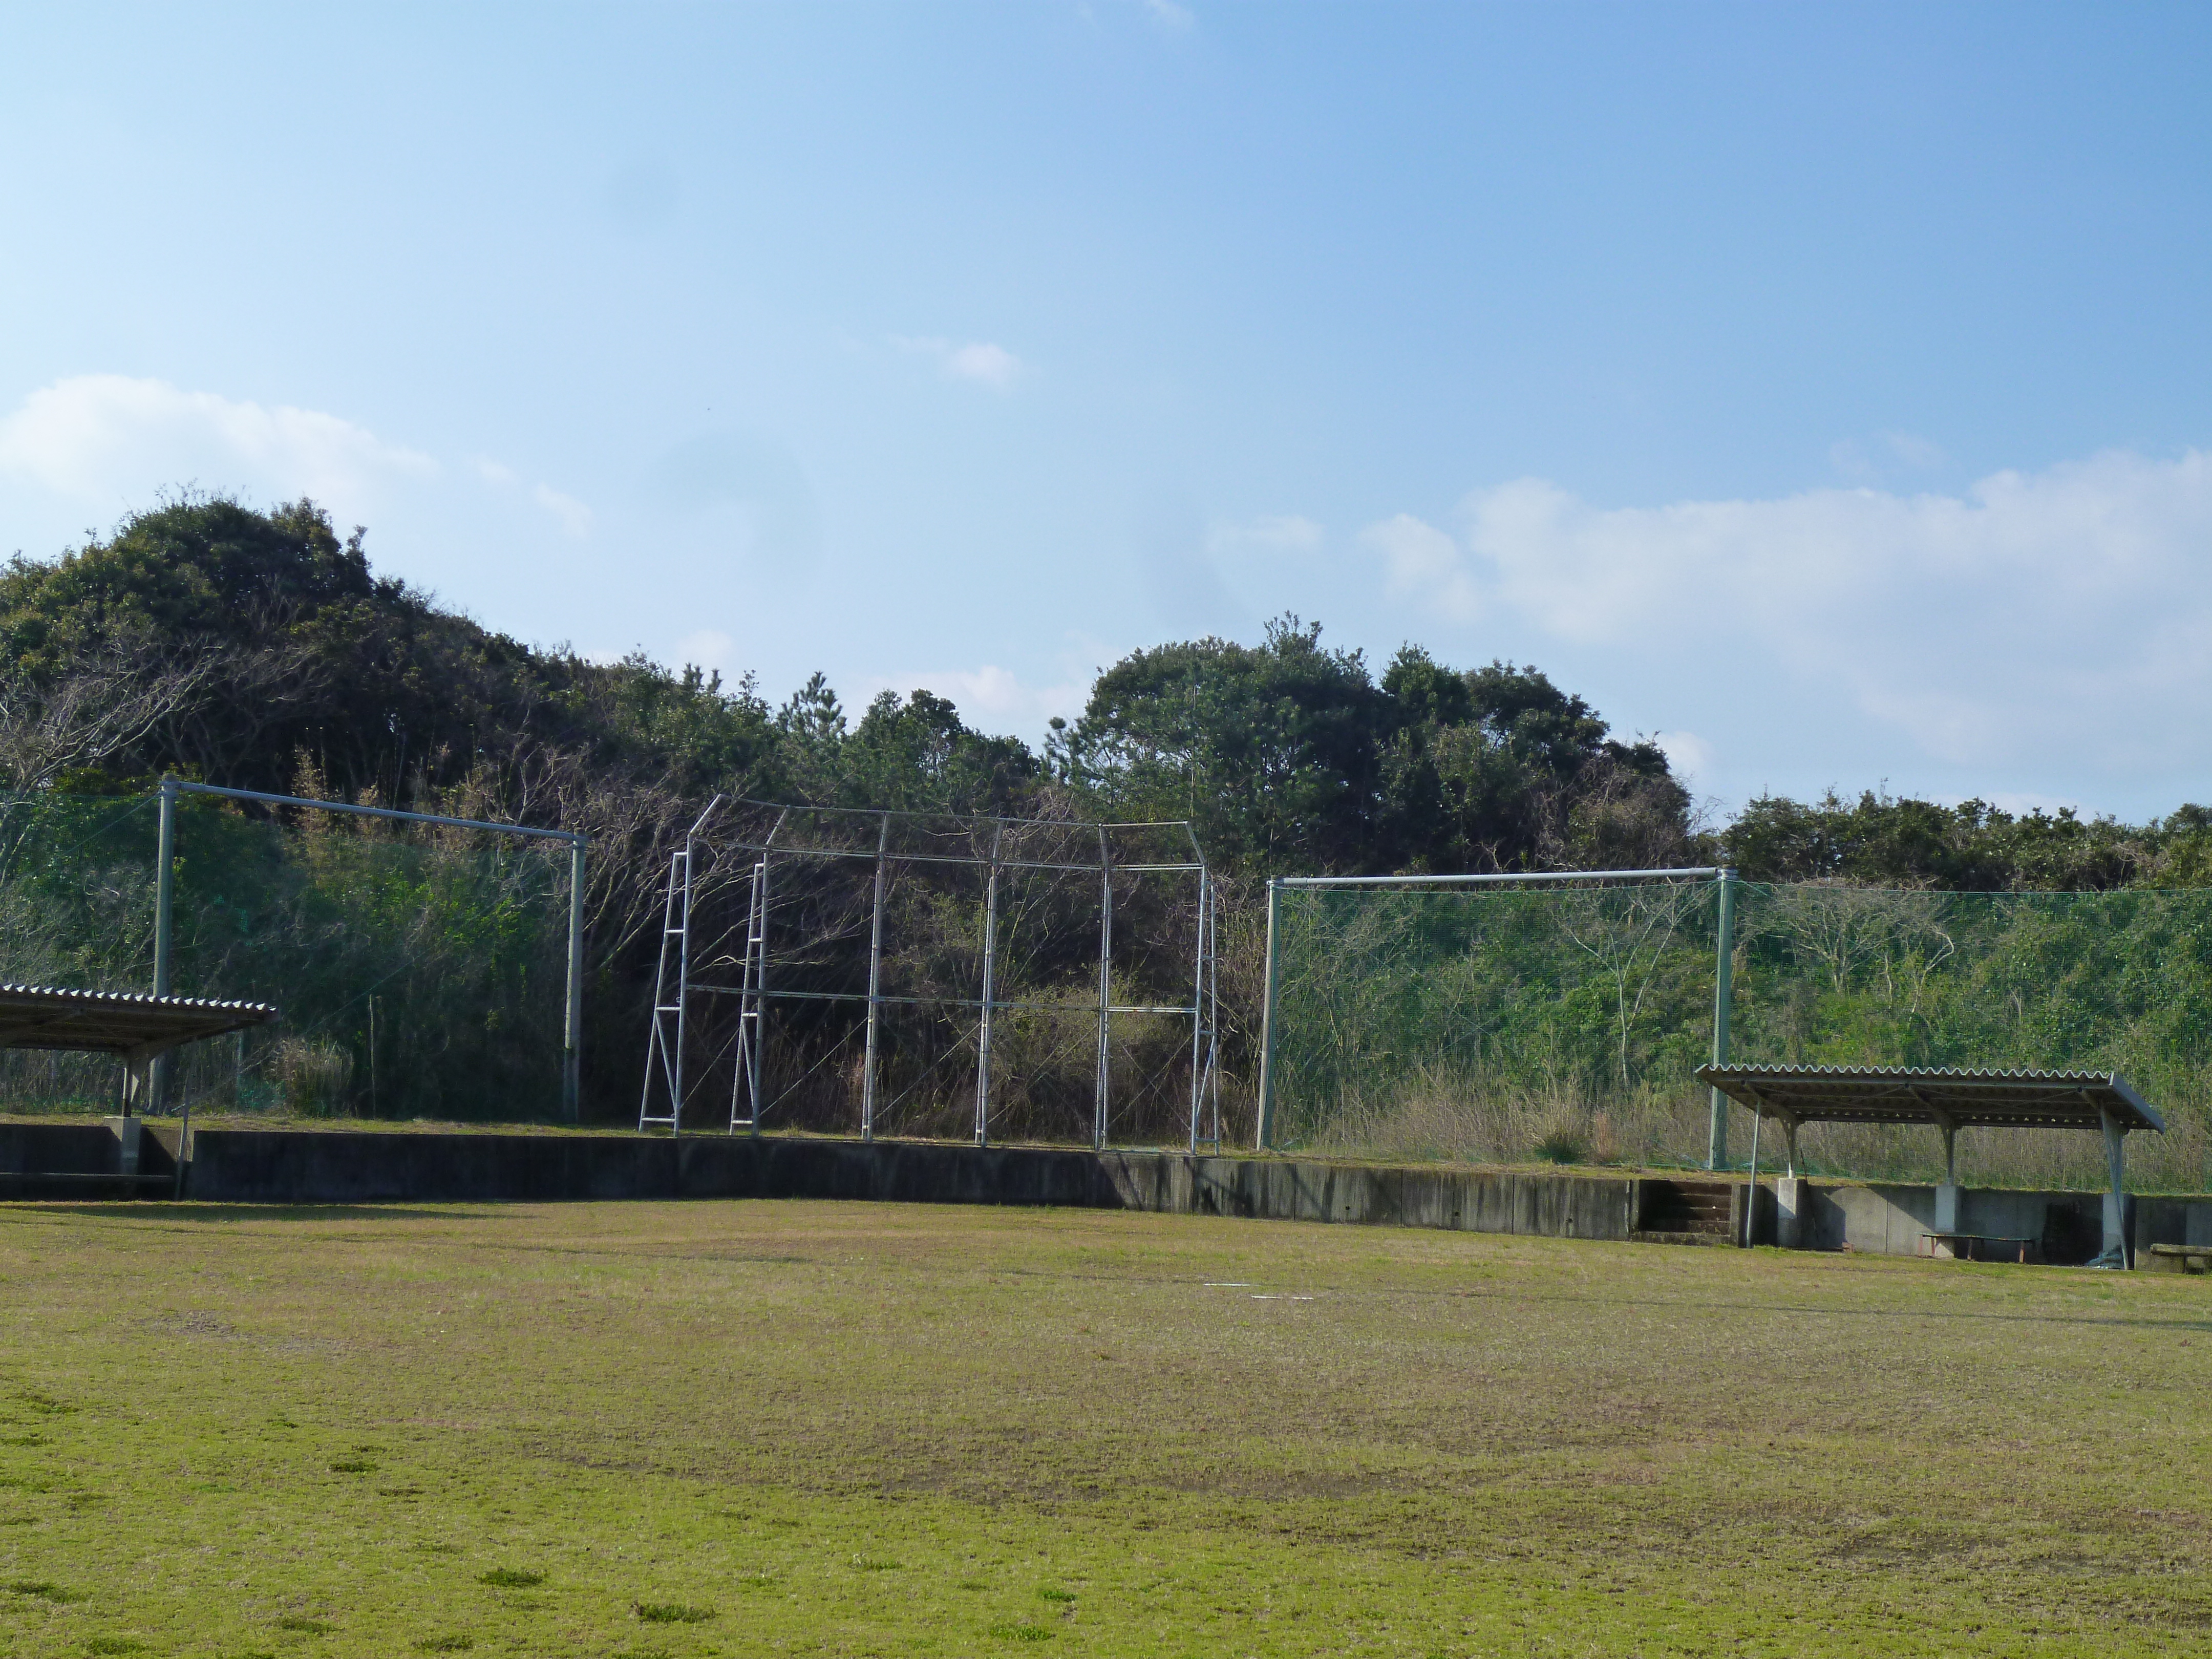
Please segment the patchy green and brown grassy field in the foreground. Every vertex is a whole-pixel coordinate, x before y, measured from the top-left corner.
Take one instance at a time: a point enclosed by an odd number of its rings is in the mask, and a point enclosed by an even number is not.
[[[0,1208],[0,1652],[2212,1652],[2212,1283]]]

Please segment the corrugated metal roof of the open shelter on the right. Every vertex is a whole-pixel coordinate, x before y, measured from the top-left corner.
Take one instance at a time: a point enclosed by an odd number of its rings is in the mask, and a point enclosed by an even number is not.
[[[2110,1071],[1958,1066],[1699,1066],[1697,1075],[1754,1113],[1798,1124],[1944,1124],[1960,1128],[2128,1128],[2166,1119]]]

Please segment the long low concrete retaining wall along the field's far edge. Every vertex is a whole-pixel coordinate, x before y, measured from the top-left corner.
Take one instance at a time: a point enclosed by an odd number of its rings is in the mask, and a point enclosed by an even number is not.
[[[0,1124],[0,1197],[166,1197],[177,1126],[146,1126],[146,1183],[115,1175],[100,1124]],[[115,1190],[111,1192],[108,1186]],[[1644,1181],[1542,1170],[1327,1164],[1321,1159],[1091,1152],[1037,1146],[814,1141],[695,1135],[442,1135],[201,1128],[186,1197],[215,1203],[500,1203],[566,1199],[874,1199],[1157,1210],[1276,1221],[1628,1239]],[[2212,1245],[2212,1199],[2130,1199],[2135,1248]],[[1741,1225],[1741,1199],[1734,1206]],[[1936,1225],[1936,1190],[1801,1183],[1807,1250],[1907,1256]],[[1774,1192],[1761,1183],[1761,1241]],[[2101,1239],[2095,1192],[1960,1197],[1960,1230],[2035,1239],[2051,1261],[2088,1261]]]

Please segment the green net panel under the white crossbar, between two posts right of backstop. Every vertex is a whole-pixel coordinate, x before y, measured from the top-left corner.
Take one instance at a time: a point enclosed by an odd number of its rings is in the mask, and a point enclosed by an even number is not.
[[[1710,1053],[1714,918],[1710,880],[1283,889],[1276,1141],[1657,1155],[1608,1137]]]

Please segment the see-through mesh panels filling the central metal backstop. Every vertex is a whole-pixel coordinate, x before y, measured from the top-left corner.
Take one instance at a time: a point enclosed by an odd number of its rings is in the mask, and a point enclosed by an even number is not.
[[[668,891],[646,1126],[1214,1139],[1188,825],[719,801]]]

